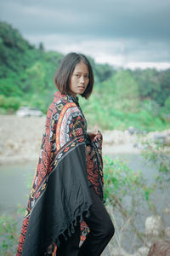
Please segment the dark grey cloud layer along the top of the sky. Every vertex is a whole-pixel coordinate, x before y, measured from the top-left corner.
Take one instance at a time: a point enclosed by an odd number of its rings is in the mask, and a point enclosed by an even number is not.
[[[2,0],[3,19],[28,33],[88,34],[96,38],[170,38],[169,0]]]

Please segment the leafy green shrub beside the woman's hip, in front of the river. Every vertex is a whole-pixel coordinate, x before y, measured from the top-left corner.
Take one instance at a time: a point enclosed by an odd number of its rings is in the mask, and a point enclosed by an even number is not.
[[[129,230],[133,230],[139,241],[144,243],[144,236],[138,230],[135,219],[140,212],[139,207],[145,207],[144,201],[150,202],[153,192],[141,172],[133,172],[125,161],[104,158],[105,201],[110,207],[121,212],[122,219],[128,222]]]

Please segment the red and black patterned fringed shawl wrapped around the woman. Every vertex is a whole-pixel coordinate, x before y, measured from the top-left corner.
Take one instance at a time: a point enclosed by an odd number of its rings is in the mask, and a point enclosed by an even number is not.
[[[60,236],[71,236],[77,221],[89,214],[89,183],[103,199],[101,135],[91,142],[77,99],[57,91],[48,108],[16,255],[42,256],[53,242],[59,246]],[[84,222],[81,230],[86,236]]]

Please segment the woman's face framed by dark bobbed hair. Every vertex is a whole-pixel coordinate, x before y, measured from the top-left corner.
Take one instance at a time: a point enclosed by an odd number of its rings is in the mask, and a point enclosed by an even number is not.
[[[77,94],[82,94],[89,82],[89,72],[88,72],[88,66],[83,62],[80,61],[75,69],[73,70],[73,73],[71,74],[71,80],[69,84],[69,92],[72,96],[77,96]]]

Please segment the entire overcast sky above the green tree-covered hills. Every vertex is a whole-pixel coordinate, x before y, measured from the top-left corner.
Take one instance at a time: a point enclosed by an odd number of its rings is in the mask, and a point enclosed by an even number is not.
[[[170,0],[0,0],[31,44],[122,67],[170,67]]]

